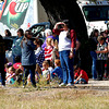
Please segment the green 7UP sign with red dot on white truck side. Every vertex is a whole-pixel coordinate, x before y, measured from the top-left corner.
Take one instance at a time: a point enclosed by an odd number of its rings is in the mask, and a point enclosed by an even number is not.
[[[31,0],[4,0],[1,22],[9,28],[17,29],[24,22]]]

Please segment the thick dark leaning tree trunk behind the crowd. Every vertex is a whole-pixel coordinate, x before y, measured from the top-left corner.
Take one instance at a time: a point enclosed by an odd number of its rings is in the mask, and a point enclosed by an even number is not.
[[[82,12],[76,3],[76,0],[39,0],[45,8],[52,26],[62,20],[69,20],[71,28],[74,28],[77,34],[78,40],[81,40],[81,59],[82,68],[87,70],[88,61],[88,48],[87,48],[87,29],[84,22]],[[86,64],[85,64],[86,63]]]

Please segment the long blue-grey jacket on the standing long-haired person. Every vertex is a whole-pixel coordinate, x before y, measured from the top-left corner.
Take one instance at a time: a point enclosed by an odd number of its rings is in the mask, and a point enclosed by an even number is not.
[[[36,58],[35,58],[35,50],[36,46],[29,39],[23,41],[22,47],[22,65],[35,65]]]

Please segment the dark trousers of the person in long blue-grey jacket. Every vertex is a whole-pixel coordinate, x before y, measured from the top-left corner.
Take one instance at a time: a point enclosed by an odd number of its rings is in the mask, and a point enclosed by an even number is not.
[[[27,76],[29,73],[31,73],[31,82],[32,82],[33,86],[36,86],[35,69],[36,69],[36,65],[24,65],[24,78],[23,78],[24,86],[27,84]]]

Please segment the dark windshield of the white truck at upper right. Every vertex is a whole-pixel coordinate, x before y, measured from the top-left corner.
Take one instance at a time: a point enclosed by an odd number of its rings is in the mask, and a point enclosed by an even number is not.
[[[83,7],[83,12],[87,21],[108,21],[108,5],[86,5]]]

